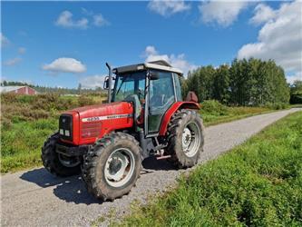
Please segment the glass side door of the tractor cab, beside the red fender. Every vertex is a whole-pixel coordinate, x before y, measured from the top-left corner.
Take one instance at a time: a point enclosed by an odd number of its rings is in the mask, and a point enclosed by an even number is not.
[[[171,104],[176,102],[172,73],[151,71],[158,74],[156,80],[149,80],[148,95],[148,134],[156,134],[160,130],[161,120]]]

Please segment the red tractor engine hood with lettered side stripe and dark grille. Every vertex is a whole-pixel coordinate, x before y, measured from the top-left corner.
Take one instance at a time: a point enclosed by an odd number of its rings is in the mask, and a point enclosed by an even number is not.
[[[88,105],[75,108],[64,112],[62,114],[63,117],[60,117],[60,121],[64,117],[66,118],[66,115],[67,118],[72,117],[72,124],[69,126],[72,129],[69,131],[72,132],[73,136],[69,137],[69,142],[66,140],[66,136],[63,139],[67,143],[76,145],[95,143],[97,139],[102,138],[107,133],[129,129],[133,125],[133,106],[127,102]],[[68,119],[65,122],[68,122]],[[66,132],[65,128],[62,129],[62,132]]]

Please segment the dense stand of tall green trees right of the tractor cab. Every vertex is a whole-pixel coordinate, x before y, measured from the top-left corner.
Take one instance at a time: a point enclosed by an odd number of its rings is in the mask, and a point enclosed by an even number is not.
[[[200,102],[218,100],[230,105],[287,104],[289,84],[273,60],[235,59],[230,65],[201,66],[182,81],[183,94],[197,94]]]

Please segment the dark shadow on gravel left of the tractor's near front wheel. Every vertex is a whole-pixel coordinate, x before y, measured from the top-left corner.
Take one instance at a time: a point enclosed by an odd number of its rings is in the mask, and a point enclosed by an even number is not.
[[[87,192],[81,175],[55,177],[44,168],[40,168],[23,173],[20,178],[35,183],[42,188],[54,187],[54,195],[65,202],[87,205],[92,203],[102,204],[102,201],[95,199],[93,195]]]

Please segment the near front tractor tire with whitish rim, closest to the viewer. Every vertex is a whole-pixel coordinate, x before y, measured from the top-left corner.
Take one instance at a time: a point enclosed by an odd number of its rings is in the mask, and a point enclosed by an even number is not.
[[[88,192],[113,201],[131,191],[141,173],[141,147],[127,133],[110,133],[84,155],[83,181]]]

